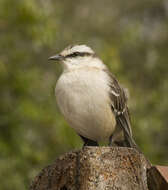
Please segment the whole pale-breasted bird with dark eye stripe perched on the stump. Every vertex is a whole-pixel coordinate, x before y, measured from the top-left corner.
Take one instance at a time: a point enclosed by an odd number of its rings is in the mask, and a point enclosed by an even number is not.
[[[60,112],[83,146],[137,149],[132,136],[128,96],[108,67],[87,45],[69,45],[48,58],[62,65],[55,95]]]

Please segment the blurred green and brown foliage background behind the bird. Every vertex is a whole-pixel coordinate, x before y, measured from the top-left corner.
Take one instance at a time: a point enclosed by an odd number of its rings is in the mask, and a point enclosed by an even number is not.
[[[168,1],[0,0],[0,189],[25,190],[82,142],[64,121],[47,58],[87,44],[130,92],[137,144],[168,164]]]

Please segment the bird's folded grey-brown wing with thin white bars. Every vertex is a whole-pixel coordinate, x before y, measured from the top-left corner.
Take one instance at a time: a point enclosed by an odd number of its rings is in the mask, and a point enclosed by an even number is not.
[[[111,109],[116,117],[117,126],[119,126],[124,132],[126,146],[137,148],[137,145],[132,138],[130,115],[127,107],[127,96],[125,90],[119,85],[112,73],[108,70],[105,70],[105,72],[110,78],[109,96],[111,99]]]

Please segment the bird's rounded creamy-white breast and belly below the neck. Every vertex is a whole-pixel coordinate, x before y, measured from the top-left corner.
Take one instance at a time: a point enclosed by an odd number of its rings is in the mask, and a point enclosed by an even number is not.
[[[63,73],[56,85],[58,106],[75,131],[91,140],[108,140],[116,121],[110,107],[106,73],[95,69]]]

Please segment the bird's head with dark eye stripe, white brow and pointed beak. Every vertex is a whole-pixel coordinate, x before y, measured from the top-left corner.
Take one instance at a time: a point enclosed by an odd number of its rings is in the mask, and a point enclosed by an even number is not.
[[[84,66],[100,67],[104,65],[95,52],[86,45],[70,45],[59,54],[49,57],[49,60],[63,63],[64,69],[74,69]]]

